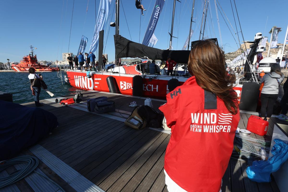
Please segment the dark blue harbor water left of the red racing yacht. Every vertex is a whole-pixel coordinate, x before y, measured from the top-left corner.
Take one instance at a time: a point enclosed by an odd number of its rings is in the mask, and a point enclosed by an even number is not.
[[[31,84],[28,79],[28,75],[29,73],[26,72],[1,72],[0,91],[6,93],[15,93],[19,91],[28,90],[13,94],[13,102],[15,103],[33,102],[34,100],[32,92],[30,90]],[[42,76],[43,80],[48,85],[48,90],[52,92],[55,96],[64,96],[74,94],[76,92],[76,89],[71,85],[67,85],[64,82],[62,85],[61,78],[57,77],[57,72],[43,72]],[[62,79],[64,81],[64,73],[62,73]],[[49,85],[53,83],[56,84]],[[40,93],[40,100],[47,98],[51,98],[51,96],[42,89]]]

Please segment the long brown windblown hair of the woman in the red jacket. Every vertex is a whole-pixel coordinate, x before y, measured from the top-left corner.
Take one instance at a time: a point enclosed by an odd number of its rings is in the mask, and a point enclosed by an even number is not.
[[[237,113],[237,94],[232,90],[234,74],[225,69],[223,51],[211,40],[195,43],[188,60],[188,71],[204,90],[218,96],[232,114]]]

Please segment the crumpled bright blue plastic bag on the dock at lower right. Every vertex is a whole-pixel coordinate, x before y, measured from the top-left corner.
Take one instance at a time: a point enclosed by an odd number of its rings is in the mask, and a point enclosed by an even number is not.
[[[250,180],[255,182],[271,182],[270,174],[276,172],[288,159],[288,144],[280,139],[274,139],[273,154],[267,161],[253,161],[247,167],[246,173]]]

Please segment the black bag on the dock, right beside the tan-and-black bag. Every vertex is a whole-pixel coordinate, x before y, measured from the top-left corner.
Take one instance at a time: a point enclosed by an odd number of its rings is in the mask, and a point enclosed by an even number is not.
[[[163,114],[158,113],[148,105],[139,107],[138,114],[147,121],[147,127],[162,128]]]

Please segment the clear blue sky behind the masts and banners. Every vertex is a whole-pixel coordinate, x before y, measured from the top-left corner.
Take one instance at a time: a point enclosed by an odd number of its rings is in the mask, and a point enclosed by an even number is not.
[[[218,1],[230,20],[233,28],[236,30],[230,0]],[[235,1],[245,40],[253,40],[255,33],[262,32],[265,36],[269,37],[268,40],[270,41],[270,34],[268,32],[272,26],[277,26],[283,28],[283,31],[279,33],[278,39],[279,43],[283,43],[288,24],[287,9],[283,9],[283,7],[288,7],[287,0],[263,0],[261,3],[259,3],[259,1],[251,0]],[[192,29],[194,30],[192,40],[198,40],[199,38],[203,2],[204,0],[196,0],[195,2],[193,16],[195,23],[192,24]],[[82,35],[88,37],[86,52],[89,51],[88,49],[91,44],[96,22],[95,1],[89,1],[88,11],[86,12],[87,3],[88,0],[75,0],[74,3],[72,30],[69,45],[69,52],[73,52],[74,54],[78,51]],[[96,0],[96,12],[98,12],[99,3],[100,0]],[[173,38],[172,46],[174,50],[181,50],[188,36],[192,3],[192,0],[181,0],[181,3],[176,2],[173,36],[178,37],[178,39]],[[120,35],[130,39],[124,16],[125,12],[131,38],[132,41],[135,42],[139,42],[139,31],[140,42],[143,40],[155,0],[143,0],[142,4],[147,11],[144,12],[145,16],[141,16],[141,26],[140,9],[136,9],[135,1],[122,0],[124,11],[122,5],[120,4]],[[115,9],[113,9],[114,5],[115,0],[112,0],[110,9],[111,15],[107,24],[110,23],[111,19],[112,22],[115,20]],[[38,60],[61,60],[61,53],[68,51],[72,7],[73,0],[1,1],[0,62],[7,62],[7,58],[9,58],[10,61],[19,62],[23,55],[29,54],[29,46],[31,44],[34,47],[37,47],[36,54]],[[156,48],[166,49],[169,46],[168,32],[170,32],[171,28],[172,8],[173,0],[166,0],[154,33],[158,38],[158,42],[155,46]],[[211,14],[210,10],[208,10],[204,38],[217,37],[221,45],[214,0],[211,0],[209,9],[211,10]],[[237,17],[235,9],[234,14],[235,17]],[[268,22],[265,30],[267,16]],[[223,49],[226,53],[233,52],[237,49],[237,44],[219,11],[218,17]],[[240,31],[237,18],[236,23],[238,31]],[[115,54],[113,35],[115,34],[115,28],[111,27],[108,34],[110,26],[108,26],[108,28],[107,26],[108,25],[106,25],[104,29],[104,48],[105,53],[108,54],[108,60],[113,61]],[[232,31],[231,27],[230,29]],[[232,33],[234,32],[232,31]],[[239,37],[242,41],[240,33]]]

